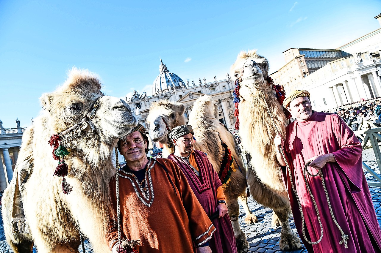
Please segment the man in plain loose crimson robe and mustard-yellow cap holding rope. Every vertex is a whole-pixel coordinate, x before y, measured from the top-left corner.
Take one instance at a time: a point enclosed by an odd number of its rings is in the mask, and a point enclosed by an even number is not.
[[[283,176],[299,236],[308,252],[381,252],[381,231],[362,170],[361,144],[339,115],[312,111],[309,97],[308,91],[297,90],[283,101],[283,106],[296,120],[287,126],[284,142],[279,135],[274,139],[278,162],[286,166],[280,150],[283,149],[290,167],[291,173],[285,169]],[[303,170],[307,162],[311,162],[307,167],[309,173],[317,174],[321,170],[322,174],[315,177],[307,174],[306,182]],[[320,175],[323,175],[333,215]],[[320,239],[320,225],[321,241],[310,244],[307,240]]]

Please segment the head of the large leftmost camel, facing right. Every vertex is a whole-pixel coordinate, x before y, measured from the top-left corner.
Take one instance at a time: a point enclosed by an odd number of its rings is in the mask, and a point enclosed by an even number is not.
[[[43,94],[40,100],[47,119],[46,134],[61,133],[79,123],[81,128],[67,135],[65,146],[76,152],[93,153],[94,159],[109,153],[118,138],[137,123],[130,106],[120,98],[105,96],[99,78],[88,70],[73,68],[61,87]]]

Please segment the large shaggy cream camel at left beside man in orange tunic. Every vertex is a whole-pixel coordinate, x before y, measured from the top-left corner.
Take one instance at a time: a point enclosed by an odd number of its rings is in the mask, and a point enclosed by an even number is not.
[[[14,175],[24,166],[32,166],[29,179],[21,191],[29,234],[11,232],[12,187],[3,196],[3,221],[8,244],[16,253],[32,252],[35,243],[39,253],[78,252],[79,232],[88,237],[94,252],[110,252],[105,240],[110,208],[109,179],[115,174],[112,155],[120,137],[128,134],[137,120],[130,106],[119,98],[104,96],[98,77],[86,70],[72,69],[69,78],[40,100],[43,110],[24,133]],[[66,181],[72,186],[64,194],[61,178],[53,176],[57,160],[48,144],[50,136],[76,124],[99,107],[91,124],[80,136],[67,141],[70,154]],[[85,125],[85,124],[83,124]],[[30,157],[31,156],[31,157]]]

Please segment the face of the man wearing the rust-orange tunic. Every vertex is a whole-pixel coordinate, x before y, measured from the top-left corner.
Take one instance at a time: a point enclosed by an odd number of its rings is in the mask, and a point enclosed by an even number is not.
[[[120,144],[120,152],[129,161],[139,161],[146,157],[147,142],[138,131],[126,136],[126,140]]]

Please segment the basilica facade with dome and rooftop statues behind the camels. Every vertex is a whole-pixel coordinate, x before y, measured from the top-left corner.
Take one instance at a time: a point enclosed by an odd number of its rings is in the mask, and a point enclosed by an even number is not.
[[[234,83],[229,74],[226,79],[207,82],[206,79],[199,79],[195,82],[187,80],[184,82],[179,76],[171,73],[166,65],[160,60],[159,75],[152,84],[152,93],[154,95],[147,96],[146,92],[139,94],[134,91],[131,97],[126,97],[127,103],[136,115],[139,123],[146,126],[146,118],[149,113],[150,105],[158,100],[169,100],[171,102],[183,103],[186,107],[184,116],[189,118],[189,113],[193,108],[193,104],[197,98],[203,95],[210,95],[217,102],[218,118],[227,128],[234,128],[234,103],[233,103]],[[151,142],[152,143],[152,142]],[[157,150],[155,146],[151,147]]]

